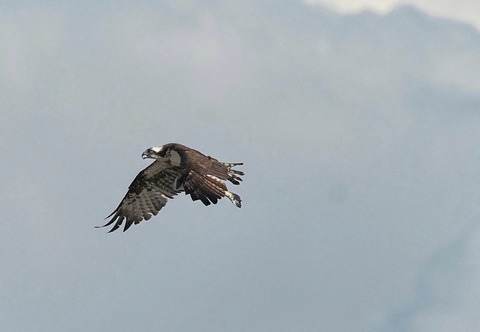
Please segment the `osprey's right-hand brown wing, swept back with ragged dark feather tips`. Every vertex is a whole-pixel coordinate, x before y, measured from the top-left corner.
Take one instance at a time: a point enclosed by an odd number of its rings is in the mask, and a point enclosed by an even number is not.
[[[242,179],[239,175],[244,175],[244,173],[231,168],[243,164],[226,164],[211,157],[208,157],[207,160],[208,162],[202,163],[200,167],[188,172],[183,181],[185,193],[190,195],[192,200],[201,200],[205,205],[217,204],[219,199],[227,197],[237,207],[241,207],[240,196],[229,192],[225,181],[228,180],[236,185],[240,184],[239,181]]]

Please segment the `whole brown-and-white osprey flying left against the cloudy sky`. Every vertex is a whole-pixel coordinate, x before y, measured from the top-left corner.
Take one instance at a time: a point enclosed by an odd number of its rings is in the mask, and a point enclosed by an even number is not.
[[[118,207],[107,218],[103,226],[114,223],[109,231],[117,230],[125,220],[125,232],[142,220],[149,220],[167,204],[168,198],[184,191],[192,200],[203,204],[216,204],[227,197],[237,207],[241,207],[240,196],[228,191],[225,181],[238,185],[243,172],[232,169],[243,163],[222,163],[215,158],[178,143],[151,147],[142,158],[155,159],[133,180],[128,192]],[[105,219],[107,219],[105,218]]]

